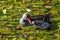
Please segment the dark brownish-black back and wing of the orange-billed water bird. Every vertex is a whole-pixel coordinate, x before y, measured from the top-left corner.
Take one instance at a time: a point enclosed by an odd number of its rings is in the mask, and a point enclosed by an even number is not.
[[[34,16],[31,16],[31,20],[35,21],[35,20],[42,20],[44,22],[48,22],[51,24],[51,15],[50,13],[49,14],[46,14],[46,15],[34,15]]]

